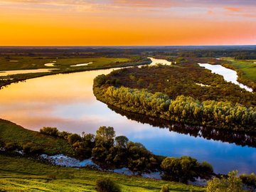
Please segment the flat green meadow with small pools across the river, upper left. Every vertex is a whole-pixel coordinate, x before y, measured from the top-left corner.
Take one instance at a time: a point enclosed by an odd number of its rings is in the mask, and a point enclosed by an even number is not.
[[[100,70],[108,68],[120,68],[134,65],[146,65],[150,63],[147,58],[140,58],[133,56],[130,58],[69,58],[69,57],[28,57],[28,56],[11,56],[0,57],[0,71],[4,70],[36,70],[36,69],[55,69],[46,73],[25,73],[4,76],[0,73],[0,88],[9,85],[13,82],[27,80],[31,78],[38,78],[45,75],[55,75],[59,73],[75,73],[86,70]],[[53,66],[47,67],[46,63],[53,63]],[[77,65],[82,63],[89,63],[88,65],[71,67],[70,65]]]

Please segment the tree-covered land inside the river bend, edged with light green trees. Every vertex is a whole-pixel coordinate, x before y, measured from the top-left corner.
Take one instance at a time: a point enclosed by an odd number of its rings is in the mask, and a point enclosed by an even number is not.
[[[95,78],[98,100],[175,122],[255,132],[256,97],[193,61],[116,70]]]

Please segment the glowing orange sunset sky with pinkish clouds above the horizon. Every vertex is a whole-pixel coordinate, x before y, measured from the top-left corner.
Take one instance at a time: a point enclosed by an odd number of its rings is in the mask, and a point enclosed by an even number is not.
[[[255,0],[183,2],[0,0],[0,46],[256,44]]]

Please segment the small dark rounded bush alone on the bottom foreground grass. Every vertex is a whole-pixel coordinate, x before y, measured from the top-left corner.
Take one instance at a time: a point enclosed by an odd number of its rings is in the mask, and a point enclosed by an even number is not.
[[[119,186],[115,184],[110,178],[100,178],[96,181],[96,190],[99,192],[119,192]]]

